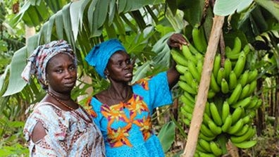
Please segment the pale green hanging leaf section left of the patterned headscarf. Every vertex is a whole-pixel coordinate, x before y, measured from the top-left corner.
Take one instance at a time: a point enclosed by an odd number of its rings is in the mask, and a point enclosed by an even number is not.
[[[26,82],[20,77],[25,68],[27,58],[26,47],[19,49],[13,55],[11,61],[11,74],[8,82],[8,89],[3,96],[8,96],[20,92],[26,85]]]

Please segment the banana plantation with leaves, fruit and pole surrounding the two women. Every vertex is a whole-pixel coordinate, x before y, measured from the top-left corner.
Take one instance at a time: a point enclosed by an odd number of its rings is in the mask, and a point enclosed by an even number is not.
[[[153,130],[166,156],[279,156],[279,1],[0,0],[0,156],[29,156],[23,127],[46,94],[23,68],[57,39],[78,59],[80,105],[108,87],[87,64],[96,44],[117,38],[135,60],[132,82],[176,62],[173,104]],[[173,33],[182,49],[166,44]]]

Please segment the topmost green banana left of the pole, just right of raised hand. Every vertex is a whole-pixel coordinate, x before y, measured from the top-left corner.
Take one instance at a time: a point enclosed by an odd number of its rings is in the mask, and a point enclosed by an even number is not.
[[[207,48],[207,42],[204,35],[204,28],[201,25],[194,26],[192,30],[192,39],[196,49],[204,54]]]

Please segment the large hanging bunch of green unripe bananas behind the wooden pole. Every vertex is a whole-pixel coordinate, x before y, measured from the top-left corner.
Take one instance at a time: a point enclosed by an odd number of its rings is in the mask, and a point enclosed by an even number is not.
[[[194,27],[193,44],[183,45],[182,51],[171,50],[181,74],[178,86],[182,89],[182,121],[190,126],[194,104],[197,99],[206,51],[206,40],[202,28]],[[199,132],[195,156],[221,156],[227,153],[225,144],[230,140],[241,149],[256,144],[252,137],[256,134],[253,118],[261,99],[254,95],[257,70],[246,70],[249,45],[241,45],[235,38],[233,49],[225,48],[225,61],[217,54],[211,74],[210,89],[204,111],[204,119]]]

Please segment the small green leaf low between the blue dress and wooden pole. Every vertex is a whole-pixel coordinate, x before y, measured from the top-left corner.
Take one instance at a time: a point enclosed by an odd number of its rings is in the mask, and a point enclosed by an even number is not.
[[[171,144],[173,144],[175,140],[175,123],[173,121],[166,123],[161,128],[158,138],[163,147],[163,151],[167,152],[168,149],[171,148]]]

